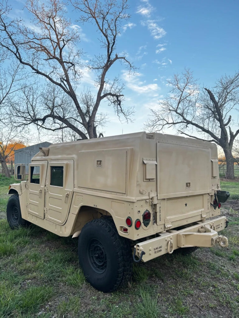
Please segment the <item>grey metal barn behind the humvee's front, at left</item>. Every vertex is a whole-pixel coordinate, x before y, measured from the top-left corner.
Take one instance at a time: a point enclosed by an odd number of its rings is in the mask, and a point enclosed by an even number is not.
[[[14,164],[23,163],[26,165],[26,173],[28,174],[28,165],[32,160],[32,157],[39,152],[40,147],[49,147],[51,142],[40,142],[35,145],[15,150],[14,152]]]

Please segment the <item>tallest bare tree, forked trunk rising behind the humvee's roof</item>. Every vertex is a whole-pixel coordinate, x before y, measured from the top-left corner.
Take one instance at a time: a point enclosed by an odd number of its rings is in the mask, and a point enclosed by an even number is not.
[[[42,4],[38,0],[27,0],[26,9],[33,17],[34,26],[31,28],[25,26],[24,21],[9,20],[10,8],[3,2],[0,8],[0,45],[40,78],[43,77],[60,88],[71,100],[71,105],[74,105],[73,114],[67,116],[62,116],[59,108],[54,107],[49,108],[48,112],[44,109],[46,112],[39,112],[37,116],[31,110],[26,118],[22,117],[23,122],[28,124],[31,121],[38,128],[53,131],[58,124],[59,129],[70,128],[81,139],[96,138],[97,114],[102,100],[107,100],[116,114],[122,115],[126,120],[134,113],[132,108],[124,109],[122,106],[124,86],[119,78],[112,81],[107,78],[109,69],[116,61],[123,61],[129,71],[133,69],[124,54],[118,56],[115,52],[121,23],[129,18],[127,0],[121,0],[120,4],[116,0],[76,1],[73,5],[81,13],[79,21],[91,21],[95,24],[101,35],[101,46],[105,50],[104,54],[100,54],[88,65],[98,74],[98,93],[91,99],[91,107],[88,107],[87,112],[85,104],[82,104],[82,97],[76,93],[83,66],[80,57],[82,51],[77,49],[80,37],[76,29],[70,28],[71,21],[66,17],[64,2],[48,0]],[[50,120],[52,124],[48,125]]]

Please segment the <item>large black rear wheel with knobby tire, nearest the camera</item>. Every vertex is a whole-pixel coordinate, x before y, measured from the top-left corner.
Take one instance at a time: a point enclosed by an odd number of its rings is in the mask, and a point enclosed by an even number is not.
[[[132,250],[111,218],[87,223],[78,241],[79,263],[88,282],[102,292],[112,292],[130,280]]]

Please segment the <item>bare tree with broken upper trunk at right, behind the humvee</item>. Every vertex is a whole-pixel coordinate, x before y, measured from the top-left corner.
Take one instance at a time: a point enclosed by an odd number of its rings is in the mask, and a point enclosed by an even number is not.
[[[181,76],[174,75],[168,84],[171,87],[169,96],[159,102],[159,109],[150,110],[145,128],[161,131],[164,127],[176,125],[180,134],[215,142],[225,153],[226,177],[233,179],[232,147],[239,129],[234,133],[231,126],[234,124],[233,110],[238,110],[239,72],[233,76],[222,76],[212,90],[204,88],[200,91],[190,70],[185,70]],[[195,136],[195,132],[203,138]]]

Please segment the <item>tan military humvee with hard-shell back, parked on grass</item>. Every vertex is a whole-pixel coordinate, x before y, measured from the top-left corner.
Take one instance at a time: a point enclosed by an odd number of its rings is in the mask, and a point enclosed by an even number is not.
[[[216,243],[220,216],[217,147],[181,136],[139,132],[40,148],[15,166],[7,204],[11,228],[33,223],[78,238],[79,263],[103,292],[130,279],[133,260],[193,252]]]

